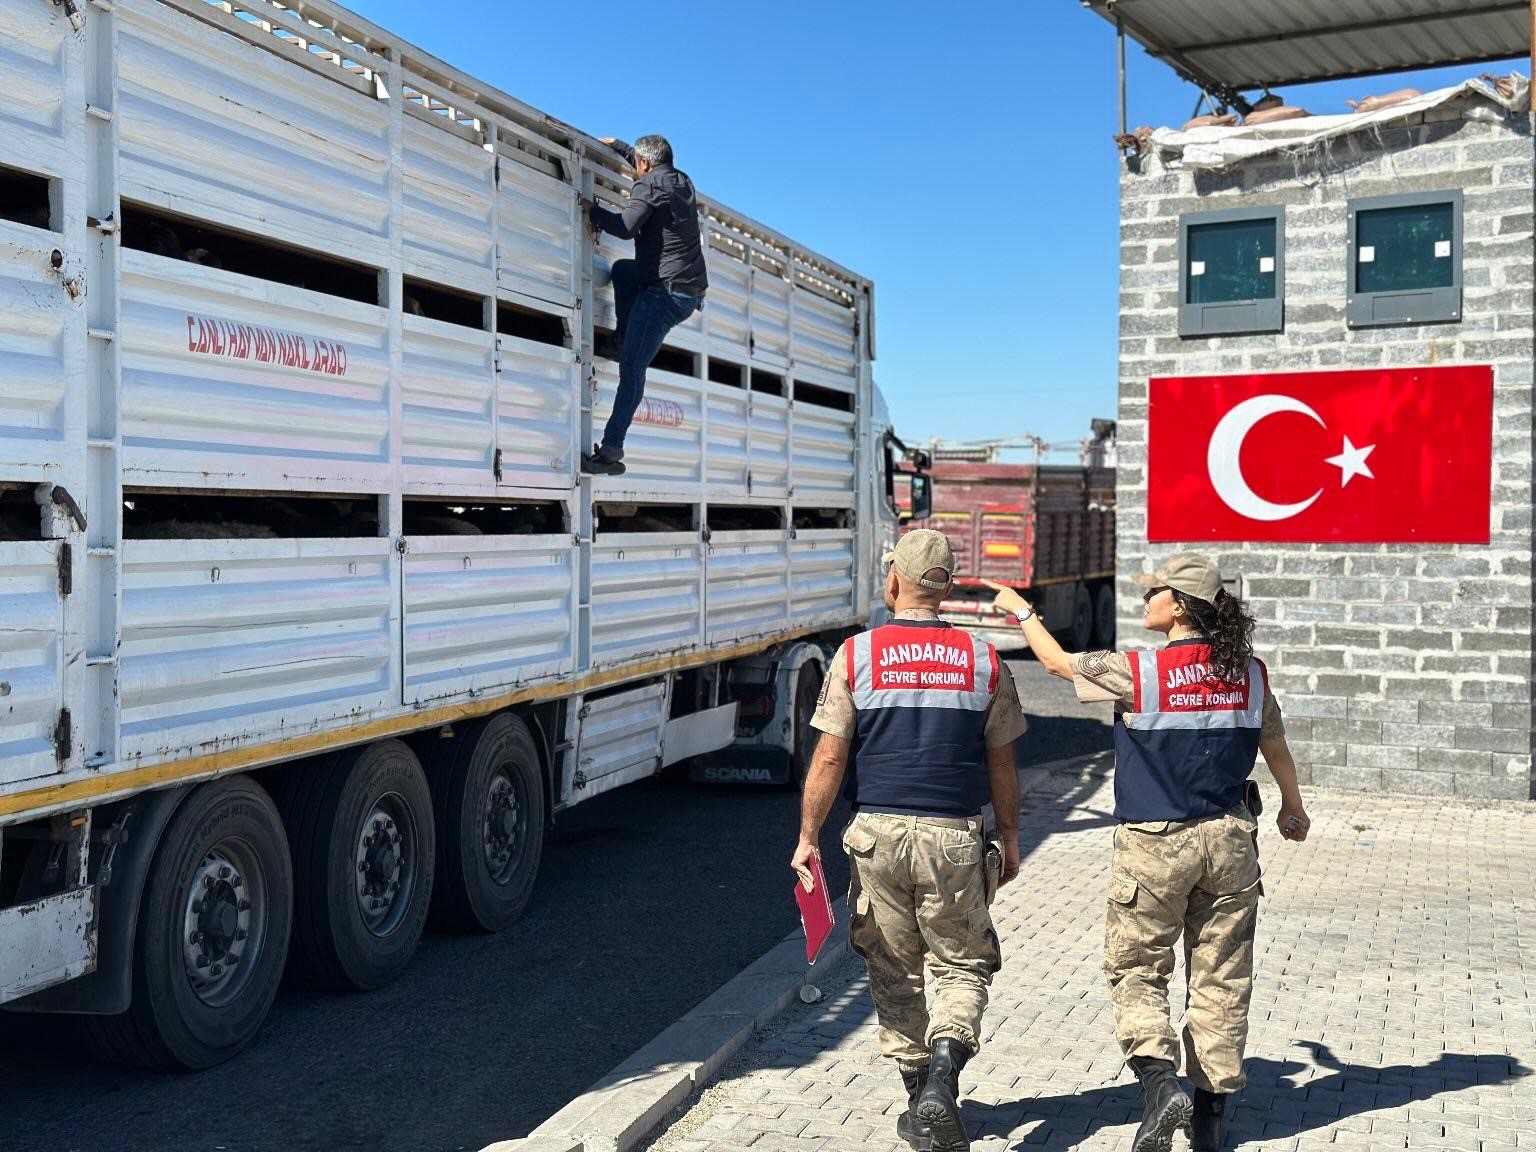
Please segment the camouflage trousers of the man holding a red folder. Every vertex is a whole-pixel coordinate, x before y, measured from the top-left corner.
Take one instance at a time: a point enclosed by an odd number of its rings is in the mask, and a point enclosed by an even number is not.
[[[928,1063],[935,1040],[980,1048],[992,974],[1003,966],[986,902],[980,817],[859,813],[843,831],[848,942],[869,968],[880,1051]],[[923,994],[923,960],[934,1005]]]

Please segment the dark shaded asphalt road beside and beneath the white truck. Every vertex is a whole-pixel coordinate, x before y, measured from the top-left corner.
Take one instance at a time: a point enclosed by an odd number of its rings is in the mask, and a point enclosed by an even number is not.
[[[1109,707],[1011,662],[1020,766],[1109,746]],[[524,919],[427,935],[369,995],[284,991],[250,1051],[198,1075],[80,1055],[0,1014],[0,1149],[442,1152],[527,1135],[797,926],[799,797],[653,780],[561,816]],[[834,814],[828,879],[848,883]]]

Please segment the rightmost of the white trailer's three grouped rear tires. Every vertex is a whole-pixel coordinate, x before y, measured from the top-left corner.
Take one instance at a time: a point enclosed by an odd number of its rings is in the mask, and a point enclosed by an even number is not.
[[[444,928],[499,932],[522,915],[544,852],[539,753],[519,717],[456,725],[429,770],[438,820],[432,919]]]

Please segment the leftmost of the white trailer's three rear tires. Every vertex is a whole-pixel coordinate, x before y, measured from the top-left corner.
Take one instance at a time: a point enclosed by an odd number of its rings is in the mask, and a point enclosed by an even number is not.
[[[157,1071],[237,1055],[276,997],[292,925],[293,874],[272,799],[243,776],[200,785],[144,879],[132,1005],[84,1017],[92,1046]]]

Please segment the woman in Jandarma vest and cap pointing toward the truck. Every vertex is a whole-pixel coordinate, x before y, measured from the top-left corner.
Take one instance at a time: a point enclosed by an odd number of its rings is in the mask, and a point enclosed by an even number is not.
[[[1150,576],[1143,624],[1167,636],[1147,651],[1068,654],[1018,593],[992,585],[1048,671],[1080,700],[1114,700],[1115,854],[1104,972],[1115,1035],[1146,1107],[1134,1152],[1166,1152],[1187,1124],[1195,1152],[1221,1147],[1227,1095],[1246,1083],[1243,1049],[1253,991],[1260,885],[1256,814],[1244,805],[1255,753],[1279,785],[1279,833],[1306,840],[1309,820],[1269,673],[1253,657],[1253,617],[1204,556],[1174,556]],[[1184,935],[1189,1003],[1184,1071],[1169,1021],[1174,943]]]

